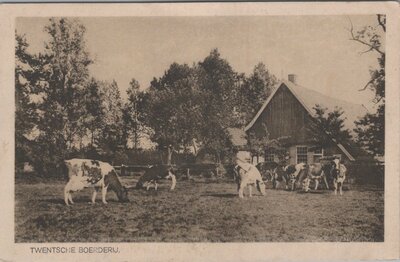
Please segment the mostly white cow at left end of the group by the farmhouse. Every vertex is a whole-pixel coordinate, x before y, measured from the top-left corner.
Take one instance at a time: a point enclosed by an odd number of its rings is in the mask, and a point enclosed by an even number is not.
[[[238,159],[235,166],[235,180],[238,185],[239,197],[243,198],[243,190],[249,188],[249,196],[252,197],[252,186],[256,185],[261,195],[265,195],[265,184],[258,169],[245,161]]]

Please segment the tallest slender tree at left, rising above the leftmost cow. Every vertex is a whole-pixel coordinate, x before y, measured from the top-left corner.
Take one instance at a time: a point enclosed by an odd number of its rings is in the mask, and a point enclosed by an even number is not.
[[[85,128],[83,93],[92,60],[84,38],[86,29],[79,20],[50,18],[45,32],[50,40],[40,70],[38,141],[46,154],[44,166],[54,166],[76,146]]]

